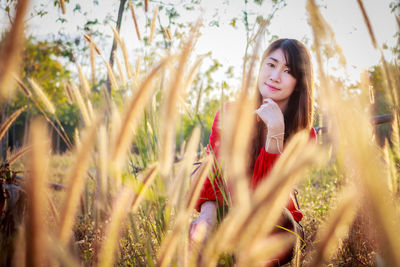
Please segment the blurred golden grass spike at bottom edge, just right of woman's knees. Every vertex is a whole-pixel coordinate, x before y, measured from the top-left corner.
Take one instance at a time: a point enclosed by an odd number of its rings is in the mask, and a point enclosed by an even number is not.
[[[316,242],[318,247],[312,257],[309,266],[322,266],[338,250],[341,240],[343,240],[354,221],[358,210],[357,192],[353,186],[348,186],[342,190],[338,198],[338,207],[331,211],[326,223],[318,230]]]

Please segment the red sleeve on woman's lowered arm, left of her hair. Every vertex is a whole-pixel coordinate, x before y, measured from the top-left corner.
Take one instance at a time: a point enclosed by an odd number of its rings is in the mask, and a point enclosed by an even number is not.
[[[220,110],[217,111],[215,114],[214,122],[211,128],[210,134],[210,141],[209,145],[207,146],[206,152],[207,154],[213,153],[214,164],[213,164],[213,175],[212,177],[207,177],[204,181],[203,188],[200,191],[200,197],[196,203],[196,210],[200,211],[201,205],[209,200],[216,200],[220,205],[224,203],[224,195],[221,191],[224,187],[224,183],[222,181],[220,168],[217,164],[217,159],[219,155],[219,147],[220,147],[220,138],[221,138],[221,131],[220,131]]]

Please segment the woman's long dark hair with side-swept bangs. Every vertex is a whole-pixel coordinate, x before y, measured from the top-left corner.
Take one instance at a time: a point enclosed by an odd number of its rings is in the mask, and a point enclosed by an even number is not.
[[[312,65],[311,56],[307,48],[295,39],[279,39],[271,43],[265,50],[261,59],[264,59],[277,49],[282,49],[291,74],[296,78],[296,86],[291,94],[287,108],[283,114],[285,120],[285,139],[302,129],[310,129],[313,118],[313,86],[312,86]],[[262,96],[259,94],[258,107],[262,103]],[[256,122],[255,131],[250,150],[249,172],[253,173],[254,164],[260,149],[265,145],[264,122]]]

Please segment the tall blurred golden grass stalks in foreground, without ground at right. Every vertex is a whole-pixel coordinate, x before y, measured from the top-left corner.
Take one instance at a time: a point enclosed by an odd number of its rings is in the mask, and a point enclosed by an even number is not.
[[[362,2],[359,3],[362,7]],[[132,4],[130,8],[140,41]],[[147,1],[145,8],[146,11],[149,8]],[[396,120],[393,146],[381,149],[372,139],[370,114],[365,112],[370,103],[361,97],[344,101],[331,86],[320,51],[324,42],[334,41],[333,35],[313,0],[308,1],[307,9],[320,71],[320,104],[334,125],[329,137],[336,151],[337,173],[345,178],[336,207],[329,211],[316,239],[308,238],[313,244],[307,251],[309,259],[304,263],[310,266],[329,263],[352,231],[354,218],[361,210],[359,207],[367,206],[374,221],[371,225],[379,229],[377,253],[388,266],[400,266],[399,219],[395,216],[398,195],[393,192],[399,190],[395,184],[399,179],[396,159],[400,156],[400,131],[394,90],[399,88],[398,80],[391,78],[392,74],[385,69],[387,87],[392,90],[389,96],[396,105]],[[150,42],[156,33],[157,12],[158,7],[154,7]],[[365,10],[363,12],[367,19]],[[191,55],[197,33],[198,26],[179,49],[167,53],[148,72],[140,71],[139,57],[133,73],[124,42],[114,31],[124,58],[117,60],[119,81],[107,62],[104,62],[104,68],[110,76],[113,91],[124,86],[131,89],[132,94],[125,100],[122,112],[112,94],[105,89],[104,105],[95,107],[91,103],[94,68],[89,81],[78,66],[80,86],[77,81],[71,81],[72,93],[68,91],[68,94],[78,105],[84,124],[77,131],[75,146],[70,152],[73,161],[64,181],[66,192],[56,205],[46,198],[49,137],[43,122],[32,124],[30,163],[25,166],[29,202],[19,235],[13,237],[18,255],[15,265],[215,266],[221,257],[235,255],[238,266],[256,266],[274,259],[279,251],[299,240],[294,233],[280,238],[268,237],[281,216],[283,205],[277,203],[285,203],[292,188],[307,176],[308,169],[327,168],[329,155],[324,147],[308,141],[307,132],[300,132],[286,145],[269,179],[255,192],[250,191],[250,178],[245,171],[248,159],[243,155],[247,154],[251,133],[252,121],[248,118],[253,114],[256,102],[252,84],[258,55],[256,48],[243,77],[238,100],[224,114],[222,121],[221,162],[227,183],[232,188],[233,205],[210,237],[200,236],[199,242],[189,242],[193,207],[213,161],[212,156],[206,157],[203,153],[200,168],[190,177],[194,163],[198,161],[200,130],[196,128],[185,148],[183,160],[174,162],[176,124],[181,116],[179,110],[183,108],[179,99],[184,98],[201,63],[201,59],[193,60]],[[370,33],[373,36],[372,30]],[[89,36],[85,38],[91,47],[93,67],[94,50],[98,51],[98,48],[95,49],[97,46]],[[375,39],[372,40],[376,46]],[[385,61],[383,64],[387,65]],[[39,85],[31,81],[31,86],[50,114],[54,114],[52,104],[40,94]],[[20,87],[30,92],[22,83]],[[20,112],[4,124],[1,135]],[[43,114],[47,116],[45,112]],[[63,135],[62,132],[59,134]],[[56,218],[51,222],[46,213],[49,204],[50,212]],[[49,231],[42,227],[48,224]],[[302,264],[302,253],[300,249],[296,251],[296,265]]]

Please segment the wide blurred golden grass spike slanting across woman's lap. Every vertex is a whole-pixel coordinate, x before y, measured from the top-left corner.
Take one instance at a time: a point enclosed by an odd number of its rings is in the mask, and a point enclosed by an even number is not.
[[[251,244],[268,236],[282,214],[283,205],[277,203],[286,203],[296,178],[307,167],[324,158],[315,145],[308,143],[308,138],[309,132],[306,130],[292,138],[275,163],[269,178],[251,195],[249,207],[233,206],[204,249],[204,265],[216,263],[217,256],[222,252],[247,253]]]

